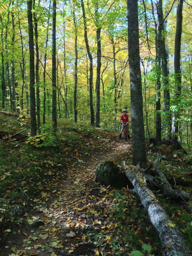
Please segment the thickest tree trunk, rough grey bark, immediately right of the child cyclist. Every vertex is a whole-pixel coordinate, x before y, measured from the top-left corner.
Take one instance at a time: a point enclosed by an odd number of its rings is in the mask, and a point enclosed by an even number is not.
[[[146,166],[143,98],[140,70],[139,24],[137,0],[127,0],[128,54],[131,82],[131,120],[133,132],[133,163]]]

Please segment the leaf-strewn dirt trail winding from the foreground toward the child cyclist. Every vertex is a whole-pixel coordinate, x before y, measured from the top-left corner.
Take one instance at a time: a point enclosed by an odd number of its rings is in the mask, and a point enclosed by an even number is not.
[[[129,148],[130,142],[116,140],[108,142],[107,150],[101,149],[92,158],[80,154],[79,160],[69,166],[60,186],[51,195],[49,191],[45,193],[44,202],[36,202],[38,205],[21,216],[20,223],[8,224],[7,236],[0,241],[0,256],[95,255],[84,252],[83,230],[94,222],[87,218],[87,204],[90,204],[87,196],[91,189],[86,184],[94,177],[99,163],[118,159]],[[99,221],[102,216],[95,214],[95,218]],[[81,240],[79,249],[75,250],[78,239]]]

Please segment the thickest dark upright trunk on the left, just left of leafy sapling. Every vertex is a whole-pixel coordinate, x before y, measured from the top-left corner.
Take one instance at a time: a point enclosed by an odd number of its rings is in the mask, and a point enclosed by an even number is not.
[[[29,29],[29,69],[30,69],[30,115],[31,115],[31,136],[37,134],[37,123],[35,115],[35,63],[34,63],[34,41],[33,41],[33,21],[32,21],[32,0],[27,1],[27,17]]]

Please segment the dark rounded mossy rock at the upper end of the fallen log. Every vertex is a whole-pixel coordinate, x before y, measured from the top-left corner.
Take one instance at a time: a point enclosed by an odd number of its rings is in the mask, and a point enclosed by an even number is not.
[[[99,163],[95,170],[96,181],[105,186],[122,188],[129,185],[129,180],[113,161]]]

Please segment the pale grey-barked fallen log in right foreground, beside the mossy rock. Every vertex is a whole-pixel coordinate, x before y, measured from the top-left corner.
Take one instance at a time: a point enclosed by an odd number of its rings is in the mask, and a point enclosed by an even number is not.
[[[129,166],[122,166],[125,174],[134,186],[134,191],[140,197],[150,217],[151,223],[157,230],[162,243],[163,256],[189,256],[189,249],[180,234],[179,229],[172,222],[163,207],[161,207],[153,192],[146,186],[145,177],[138,172],[139,166],[134,170]]]

